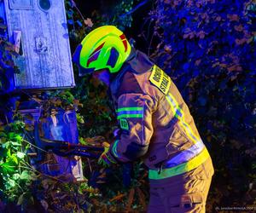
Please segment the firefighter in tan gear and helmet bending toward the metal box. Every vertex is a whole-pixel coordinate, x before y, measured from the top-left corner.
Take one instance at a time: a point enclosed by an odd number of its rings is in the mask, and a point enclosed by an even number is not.
[[[172,79],[115,26],[90,32],[73,61],[109,86],[119,138],[99,159],[148,167],[148,212],[205,212],[214,173],[189,108]]]

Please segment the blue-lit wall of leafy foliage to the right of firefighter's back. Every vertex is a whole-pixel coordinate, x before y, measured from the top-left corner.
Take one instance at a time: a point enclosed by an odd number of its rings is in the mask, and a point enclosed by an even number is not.
[[[183,93],[210,150],[215,176],[209,208],[253,204],[256,3],[156,3],[151,17],[160,43],[152,56]]]

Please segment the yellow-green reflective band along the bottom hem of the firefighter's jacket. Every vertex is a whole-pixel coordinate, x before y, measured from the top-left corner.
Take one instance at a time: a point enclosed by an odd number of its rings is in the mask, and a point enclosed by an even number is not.
[[[172,168],[163,169],[160,173],[158,170],[148,170],[148,178],[152,180],[160,180],[171,176],[183,174],[190,170],[194,170],[196,167],[203,164],[209,157],[210,155],[207,151],[207,148],[205,148],[200,154],[195,156],[195,158],[192,158],[186,163],[179,164]]]

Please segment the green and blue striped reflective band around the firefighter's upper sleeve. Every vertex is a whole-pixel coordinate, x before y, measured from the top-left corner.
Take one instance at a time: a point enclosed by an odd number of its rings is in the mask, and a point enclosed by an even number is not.
[[[120,118],[143,118],[143,107],[123,107],[117,110]]]

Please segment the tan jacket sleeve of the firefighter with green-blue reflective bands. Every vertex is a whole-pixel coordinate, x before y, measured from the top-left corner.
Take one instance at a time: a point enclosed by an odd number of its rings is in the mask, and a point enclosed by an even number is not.
[[[121,133],[109,153],[125,163],[142,157],[148,151],[153,135],[152,113],[155,102],[149,95],[125,94],[118,99],[117,119]]]

